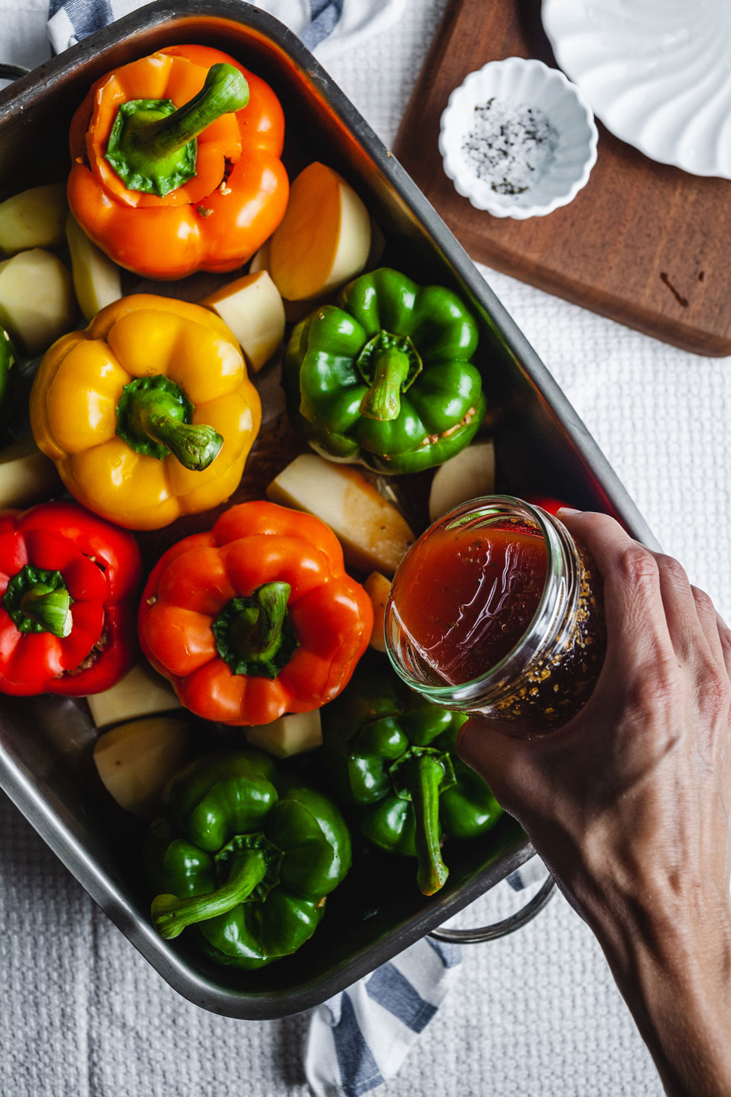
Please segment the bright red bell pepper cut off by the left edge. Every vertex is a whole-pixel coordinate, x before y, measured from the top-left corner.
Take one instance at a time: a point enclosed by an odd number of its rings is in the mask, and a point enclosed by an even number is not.
[[[85,697],[132,666],[141,559],[71,502],[0,512],[0,692]]]

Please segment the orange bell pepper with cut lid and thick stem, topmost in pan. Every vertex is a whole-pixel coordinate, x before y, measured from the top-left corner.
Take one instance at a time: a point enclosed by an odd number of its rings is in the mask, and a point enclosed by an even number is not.
[[[127,145],[124,126],[134,128]],[[69,205],[87,235],[138,274],[230,271],[284,216],[283,144],[269,84],[219,49],[170,46],[113,69],[77,110]]]

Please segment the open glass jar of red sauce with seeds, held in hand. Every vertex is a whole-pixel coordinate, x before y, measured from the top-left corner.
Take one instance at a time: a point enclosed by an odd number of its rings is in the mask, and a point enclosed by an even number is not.
[[[586,550],[512,496],[471,499],[419,538],[393,578],[385,624],[408,686],[522,737],[579,712],[605,652],[601,579]]]

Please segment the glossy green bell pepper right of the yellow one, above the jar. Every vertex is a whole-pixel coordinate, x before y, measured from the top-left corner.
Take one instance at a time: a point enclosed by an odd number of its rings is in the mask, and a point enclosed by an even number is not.
[[[380,473],[442,464],[484,418],[470,364],[477,324],[457,294],[386,267],[362,274],[294,329],[287,410],[310,445]]]

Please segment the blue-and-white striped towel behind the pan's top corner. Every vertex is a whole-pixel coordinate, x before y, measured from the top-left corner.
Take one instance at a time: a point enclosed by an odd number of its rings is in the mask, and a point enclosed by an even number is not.
[[[48,36],[59,54],[145,0],[50,0]],[[401,14],[404,0],[261,0],[267,11],[299,35],[309,49],[347,48],[382,33]]]

